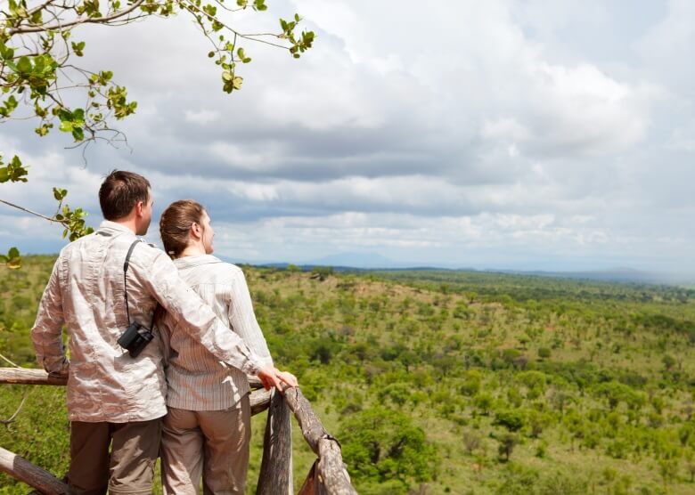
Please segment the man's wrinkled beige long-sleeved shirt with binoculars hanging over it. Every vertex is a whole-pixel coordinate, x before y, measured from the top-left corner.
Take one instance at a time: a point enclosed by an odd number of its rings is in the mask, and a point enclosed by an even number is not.
[[[136,358],[117,343],[129,324],[124,298],[124,263],[135,234],[119,223],[61,250],[38,308],[31,337],[37,360],[49,373],[69,374],[71,421],[125,423],[167,413],[161,341],[155,338]],[[157,302],[180,328],[219,361],[257,375],[264,361],[230,332],[200,297],[179,278],[160,249],[135,246],[127,270],[130,321],[148,327]],[[65,324],[70,360],[61,338]]]

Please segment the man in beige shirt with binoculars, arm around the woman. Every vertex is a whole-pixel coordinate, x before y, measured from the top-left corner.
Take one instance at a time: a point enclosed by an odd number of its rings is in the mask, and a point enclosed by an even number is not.
[[[71,490],[151,493],[160,419],[167,413],[166,382],[156,332],[136,357],[119,345],[131,323],[151,329],[159,303],[219,361],[258,375],[266,388],[297,381],[266,366],[230,332],[179,279],[163,251],[138,242],[136,235],[150,225],[153,204],[142,175],[112,172],[102,183],[99,202],[105,221],[61,250],[31,337],[44,369],[68,376]],[[63,323],[70,361],[62,344]]]

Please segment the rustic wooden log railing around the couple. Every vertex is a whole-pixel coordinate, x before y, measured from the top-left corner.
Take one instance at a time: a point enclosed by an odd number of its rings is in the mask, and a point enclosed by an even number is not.
[[[0,384],[66,385],[66,382],[66,378],[50,377],[40,369],[0,368]],[[282,394],[275,389],[265,391],[257,377],[249,377],[249,383],[253,389],[250,395],[251,415],[268,410],[257,495],[293,493],[290,411],[294,413],[305,440],[317,456],[298,494],[356,494],[343,464],[339,442],[326,432],[301,390],[286,388]],[[69,493],[67,483],[2,447],[0,471],[41,493]]]

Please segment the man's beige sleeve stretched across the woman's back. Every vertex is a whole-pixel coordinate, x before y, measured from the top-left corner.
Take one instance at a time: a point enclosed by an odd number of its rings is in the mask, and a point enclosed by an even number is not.
[[[200,342],[218,360],[241,369],[247,375],[258,375],[265,362],[224,321],[181,280],[176,265],[163,252],[155,256],[144,283],[150,285],[152,296],[164,307],[181,329]]]

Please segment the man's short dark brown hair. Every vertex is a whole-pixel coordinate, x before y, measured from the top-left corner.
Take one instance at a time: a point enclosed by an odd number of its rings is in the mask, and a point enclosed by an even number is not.
[[[138,201],[150,199],[150,183],[140,174],[114,170],[99,188],[99,205],[106,220],[127,216]]]

